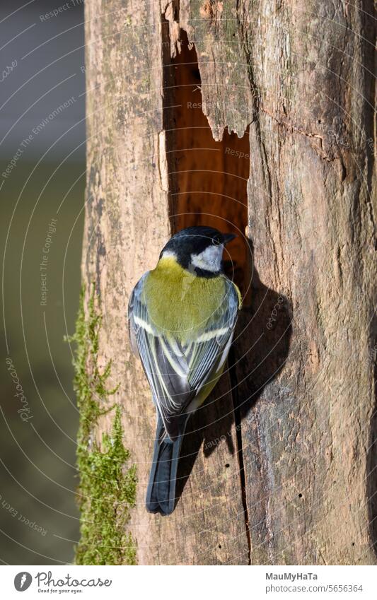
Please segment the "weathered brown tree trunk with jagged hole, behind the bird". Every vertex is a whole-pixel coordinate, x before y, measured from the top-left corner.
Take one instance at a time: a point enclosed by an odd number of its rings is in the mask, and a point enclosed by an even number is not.
[[[373,3],[356,4],[86,1],[83,280],[137,466],[139,564],[376,564]],[[163,518],[127,303],[172,231],[224,221],[246,234],[245,308]]]

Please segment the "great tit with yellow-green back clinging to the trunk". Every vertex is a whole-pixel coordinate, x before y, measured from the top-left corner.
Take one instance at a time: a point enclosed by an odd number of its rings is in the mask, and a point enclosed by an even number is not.
[[[171,514],[180,447],[190,415],[219,380],[241,305],[224,273],[224,246],[236,237],[188,227],[163,248],[129,299],[129,337],[151,386],[157,430],[146,510]]]

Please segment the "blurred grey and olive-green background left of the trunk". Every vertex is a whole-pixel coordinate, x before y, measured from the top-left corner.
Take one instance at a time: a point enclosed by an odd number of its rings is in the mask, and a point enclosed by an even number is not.
[[[0,4],[4,564],[74,560],[72,355],[85,187],[83,1]]]

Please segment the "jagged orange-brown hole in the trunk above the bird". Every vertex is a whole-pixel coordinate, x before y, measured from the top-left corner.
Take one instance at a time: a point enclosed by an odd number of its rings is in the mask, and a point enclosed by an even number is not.
[[[173,231],[211,225],[236,233],[238,237],[226,248],[224,261],[228,276],[245,292],[245,278],[250,279],[250,251],[244,238],[248,224],[248,132],[240,139],[226,130],[222,141],[214,141],[202,111],[197,54],[194,47],[189,49],[184,32],[181,52],[166,64],[165,71],[165,106],[173,106],[164,111]]]

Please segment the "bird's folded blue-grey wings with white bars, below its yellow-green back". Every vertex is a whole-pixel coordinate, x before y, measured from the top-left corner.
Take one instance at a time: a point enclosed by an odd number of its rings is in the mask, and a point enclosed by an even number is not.
[[[224,365],[236,325],[238,295],[226,281],[224,302],[207,320],[200,335],[184,346],[173,334],[156,329],[142,293],[146,276],[129,300],[129,335],[143,364],[153,399],[170,439],[182,433],[185,409],[199,394],[209,376]]]

